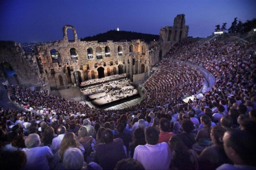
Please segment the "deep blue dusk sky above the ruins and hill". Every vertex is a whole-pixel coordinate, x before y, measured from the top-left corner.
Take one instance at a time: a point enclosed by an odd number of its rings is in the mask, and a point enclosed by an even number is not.
[[[61,40],[65,25],[74,26],[79,39],[116,28],[159,35],[182,13],[188,36],[206,37],[218,24],[229,28],[235,17],[256,18],[256,0],[0,0],[0,40]]]

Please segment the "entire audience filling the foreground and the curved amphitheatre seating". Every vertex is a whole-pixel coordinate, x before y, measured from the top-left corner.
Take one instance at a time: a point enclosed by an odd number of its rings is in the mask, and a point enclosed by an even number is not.
[[[200,88],[200,75],[159,62],[166,74],[147,80],[145,100],[119,111],[9,86],[11,100],[28,110],[0,109],[1,167],[256,169],[256,45],[181,42],[165,57],[205,68],[216,84],[183,103]]]

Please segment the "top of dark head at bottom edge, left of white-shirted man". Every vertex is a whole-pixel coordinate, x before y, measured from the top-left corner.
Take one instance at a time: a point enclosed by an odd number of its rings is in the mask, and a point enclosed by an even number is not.
[[[138,160],[127,158],[118,161],[114,170],[145,170],[145,168]]]

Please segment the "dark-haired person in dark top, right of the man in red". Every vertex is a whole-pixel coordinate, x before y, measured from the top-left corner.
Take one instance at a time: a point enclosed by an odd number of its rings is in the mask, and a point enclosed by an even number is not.
[[[193,144],[196,143],[195,134],[192,131],[195,129],[193,122],[186,119],[182,123],[182,134],[177,134],[188,149],[192,149]]]

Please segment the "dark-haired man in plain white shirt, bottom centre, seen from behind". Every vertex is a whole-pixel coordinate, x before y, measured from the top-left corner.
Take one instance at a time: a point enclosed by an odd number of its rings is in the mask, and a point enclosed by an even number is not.
[[[135,148],[133,159],[142,163],[146,170],[167,170],[169,169],[172,153],[166,142],[157,143],[159,131],[148,126],[145,131],[147,144],[138,145]]]

